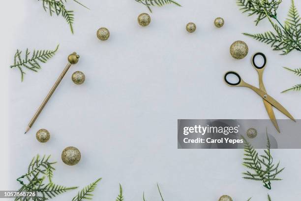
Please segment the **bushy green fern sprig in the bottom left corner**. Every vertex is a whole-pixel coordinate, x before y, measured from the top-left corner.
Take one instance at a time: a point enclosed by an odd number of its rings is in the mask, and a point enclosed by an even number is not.
[[[37,155],[31,160],[27,173],[17,178],[17,181],[22,185],[18,192],[36,192],[36,197],[16,197],[15,201],[46,201],[78,188],[54,184],[52,182],[53,171],[55,170],[53,165],[56,162],[50,162],[49,159],[50,156],[46,157],[44,155],[40,158]],[[45,177],[48,178],[49,183],[44,183]],[[26,182],[23,181],[25,179]]]

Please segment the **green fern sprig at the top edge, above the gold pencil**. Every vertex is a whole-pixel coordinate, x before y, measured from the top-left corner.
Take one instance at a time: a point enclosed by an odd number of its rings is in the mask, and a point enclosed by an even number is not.
[[[70,27],[70,31],[73,34],[73,22],[74,22],[74,14],[73,10],[67,10],[65,7],[65,3],[67,0],[41,0],[43,2],[43,8],[46,12],[49,13],[50,16],[56,14],[57,16],[62,16]],[[88,8],[87,6],[83,5],[81,2],[77,0],[73,0],[76,3]],[[89,9],[89,8],[88,8]]]

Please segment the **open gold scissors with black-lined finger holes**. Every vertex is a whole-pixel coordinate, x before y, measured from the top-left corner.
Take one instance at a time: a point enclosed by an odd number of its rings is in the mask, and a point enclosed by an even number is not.
[[[257,66],[255,64],[255,58],[257,56],[262,56],[263,59],[264,59],[264,64],[261,67],[259,67],[259,66]],[[266,88],[265,88],[264,83],[263,83],[263,72],[264,72],[264,69],[265,69],[265,67],[267,65],[267,57],[263,53],[261,53],[261,52],[255,53],[252,56],[251,63],[253,65],[253,67],[255,68],[255,70],[258,72],[259,89],[257,87],[254,87],[254,86],[252,86],[252,85],[244,82],[241,79],[241,76],[237,72],[235,72],[235,71],[228,71],[228,72],[226,72],[225,75],[224,75],[224,80],[225,80],[226,84],[229,85],[230,87],[247,87],[247,88],[252,89],[259,96],[261,96],[261,98],[264,101],[264,105],[265,105],[265,107],[267,109],[267,112],[269,114],[269,117],[271,119],[271,122],[275,126],[276,130],[280,133],[279,126],[278,126],[277,120],[275,118],[275,114],[274,114],[272,106],[276,107],[280,112],[282,112],[283,114],[285,114],[287,117],[289,117],[290,119],[292,119],[294,122],[296,122],[296,120],[294,119],[294,117],[279,102],[277,102],[275,99],[273,99],[271,96],[269,96],[267,94]],[[227,76],[230,75],[230,74],[233,74],[233,75],[237,76],[237,78],[238,78],[238,82],[237,83],[231,83],[231,82],[229,82],[227,80]]]

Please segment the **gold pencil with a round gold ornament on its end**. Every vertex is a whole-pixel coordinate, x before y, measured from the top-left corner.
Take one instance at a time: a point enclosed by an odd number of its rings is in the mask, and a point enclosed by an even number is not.
[[[26,131],[25,131],[24,134],[26,134],[30,130],[31,126],[33,125],[33,123],[35,122],[35,120],[37,119],[37,117],[39,116],[39,114],[41,113],[41,111],[43,110],[44,106],[46,105],[46,103],[48,102],[48,100],[50,99],[50,97],[52,96],[52,94],[55,92],[55,90],[59,86],[60,81],[62,80],[62,78],[64,77],[64,75],[68,71],[68,69],[71,67],[71,65],[76,64],[78,62],[78,60],[79,60],[79,55],[77,55],[76,52],[73,52],[72,54],[70,54],[68,56],[68,64],[63,69],[63,71],[60,73],[60,76],[59,76],[58,80],[55,82],[55,84],[53,85],[53,87],[51,88],[51,90],[49,91],[49,93],[47,94],[47,96],[45,97],[45,99],[43,100],[42,104],[37,109],[36,113],[33,115],[33,117],[30,120],[30,123],[28,124],[28,127],[27,127],[27,129],[26,129]]]

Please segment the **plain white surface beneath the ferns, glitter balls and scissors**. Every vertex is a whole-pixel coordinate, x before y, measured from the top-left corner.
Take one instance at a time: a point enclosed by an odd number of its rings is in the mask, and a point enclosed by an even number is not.
[[[126,201],[142,200],[143,192],[147,200],[159,200],[156,182],[167,201],[216,201],[223,194],[235,201],[249,197],[266,201],[268,193],[273,201],[301,198],[300,150],[272,151],[275,161],[281,160],[286,169],[281,174],[284,180],[273,182],[269,191],[260,182],[241,178],[242,150],[177,149],[177,119],[268,118],[262,99],[254,92],[228,87],[223,81],[225,71],[236,70],[246,82],[257,86],[258,76],[250,58],[258,51],[268,58],[264,73],[267,91],[296,119],[301,118],[301,93],[280,94],[301,83],[300,77],[282,68],[300,67],[301,53],[280,56],[241,34],[271,30],[267,20],[255,27],[254,19],[242,15],[235,0],[179,2],[182,7],[153,8],[150,26],[140,27],[137,16],[148,10],[134,0],[83,1],[91,10],[69,0],[67,7],[75,10],[74,35],[63,18],[44,12],[41,1],[2,4],[1,189],[18,189],[15,179],[26,172],[31,158],[39,153],[51,154],[58,161],[54,173],[57,184],[82,188],[103,177],[94,193],[94,200],[99,201],[114,200],[119,183]],[[296,5],[301,10],[301,3]],[[281,3],[281,21],[289,6],[289,0]],[[221,29],[213,25],[218,16],[225,19]],[[190,21],[197,25],[195,33],[185,31]],[[97,39],[100,27],[110,30],[109,40]],[[229,54],[235,40],[244,40],[249,46],[249,54],[242,60]],[[54,49],[59,43],[57,54],[38,73],[27,71],[24,82],[17,68],[9,68],[17,48]],[[30,118],[73,51],[80,54],[79,63],[69,69],[24,135]],[[83,85],[71,81],[76,70],[86,75]],[[286,118],[276,110],[275,115]],[[35,132],[41,128],[51,132],[45,144],[35,139]],[[259,133],[264,134],[264,128]],[[80,149],[78,165],[62,163],[60,154],[67,146]],[[68,192],[54,200],[71,200],[76,193]]]

